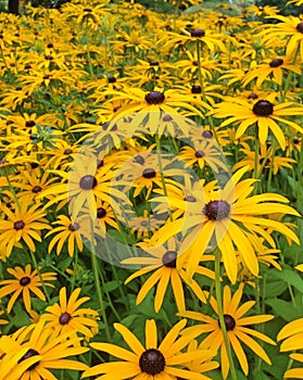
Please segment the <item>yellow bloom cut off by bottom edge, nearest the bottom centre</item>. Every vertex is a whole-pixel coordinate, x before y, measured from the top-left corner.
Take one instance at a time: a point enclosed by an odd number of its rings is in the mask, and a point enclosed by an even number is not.
[[[122,334],[130,351],[111,343],[91,343],[94,350],[106,352],[122,360],[99,364],[86,370],[83,378],[98,376],[96,380],[205,380],[203,375],[188,370],[186,364],[203,357],[204,353],[210,357],[210,351],[197,350],[181,353],[181,350],[192,340],[191,337],[178,338],[185,326],[186,319],[180,320],[159,345],[155,321],[147,320],[143,345],[125,326],[114,324],[114,328]]]

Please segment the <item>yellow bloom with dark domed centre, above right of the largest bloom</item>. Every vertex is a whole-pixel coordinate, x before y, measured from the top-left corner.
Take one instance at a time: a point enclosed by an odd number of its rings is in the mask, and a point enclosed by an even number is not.
[[[285,124],[286,126],[290,126],[291,128],[303,132],[302,127],[285,117],[303,115],[303,109],[295,106],[295,103],[291,102],[279,103],[276,105],[267,99],[260,99],[252,104],[248,100],[236,98],[216,104],[215,110],[212,111],[211,114],[217,118],[228,117],[222,123],[222,127],[231,123],[238,124],[236,139],[243,136],[250,126],[256,124],[258,127],[260,142],[261,144],[265,144],[269,129],[282,150],[286,149],[286,138],[279,124]]]

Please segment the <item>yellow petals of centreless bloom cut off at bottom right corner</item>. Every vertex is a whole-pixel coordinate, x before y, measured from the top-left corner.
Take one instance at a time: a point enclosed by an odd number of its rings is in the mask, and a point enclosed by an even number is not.
[[[287,324],[278,333],[277,340],[281,342],[280,352],[287,351],[301,351],[303,349],[303,318],[299,318],[292,320]],[[303,354],[302,353],[292,353],[290,354],[290,358],[300,363],[303,363]],[[291,368],[288,369],[283,378],[286,379],[302,379],[303,378],[303,368]]]

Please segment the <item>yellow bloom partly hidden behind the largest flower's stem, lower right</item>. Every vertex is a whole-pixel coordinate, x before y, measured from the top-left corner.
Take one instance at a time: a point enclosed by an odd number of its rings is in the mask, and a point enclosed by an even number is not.
[[[258,325],[266,322],[274,318],[272,315],[254,315],[244,317],[244,315],[253,307],[255,301],[248,301],[240,305],[240,301],[243,293],[243,286],[240,286],[239,289],[231,295],[230,288],[226,286],[224,288],[224,299],[223,299],[223,313],[224,321],[227,330],[228,341],[235,352],[240,366],[245,376],[249,373],[249,363],[245,355],[245,352],[242,349],[241,342],[250,347],[255,355],[260,356],[264,362],[270,364],[270,359],[266,354],[265,350],[251,337],[257,338],[266,343],[275,345],[276,343],[265,334],[260,331],[255,331],[252,328],[249,328],[250,325]],[[218,306],[217,301],[212,296],[210,304],[214,313],[218,316]],[[202,333],[207,333],[207,337],[204,338],[200,344],[200,349],[209,349],[212,351],[220,350],[220,365],[222,365],[222,375],[226,379],[229,372],[229,360],[227,356],[226,346],[224,343],[224,335],[222,328],[219,326],[218,319],[215,317],[210,317],[198,312],[186,312],[181,316],[190,319],[198,320],[199,325],[188,327],[182,331],[185,337],[187,335],[198,335]]]

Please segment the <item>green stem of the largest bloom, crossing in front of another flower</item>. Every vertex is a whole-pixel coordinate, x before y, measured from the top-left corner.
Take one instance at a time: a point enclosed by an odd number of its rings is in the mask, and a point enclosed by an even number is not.
[[[235,369],[231,347],[226,330],[226,325],[224,320],[224,309],[223,309],[223,301],[222,301],[222,290],[220,290],[220,251],[218,249],[215,250],[215,288],[216,288],[216,299],[217,299],[217,308],[218,308],[218,319],[219,319],[219,327],[223,333],[224,339],[224,345],[226,347],[227,357],[229,362],[230,367],[230,375],[232,380],[237,380],[237,373]]]

